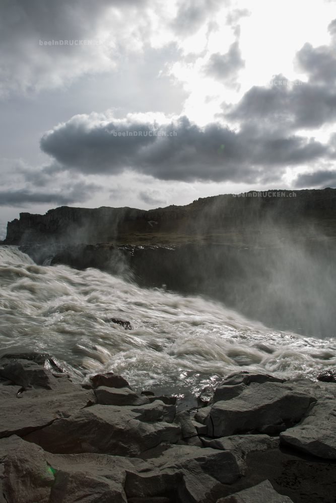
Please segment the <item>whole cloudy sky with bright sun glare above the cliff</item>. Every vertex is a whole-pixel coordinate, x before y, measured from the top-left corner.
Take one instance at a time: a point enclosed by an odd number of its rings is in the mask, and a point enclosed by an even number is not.
[[[0,234],[21,211],[336,187],[335,0],[2,0]]]

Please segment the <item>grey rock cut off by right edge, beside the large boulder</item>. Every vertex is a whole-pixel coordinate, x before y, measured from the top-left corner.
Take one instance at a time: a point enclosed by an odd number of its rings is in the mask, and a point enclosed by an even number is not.
[[[298,425],[281,433],[280,440],[314,456],[336,459],[335,400],[318,400]]]

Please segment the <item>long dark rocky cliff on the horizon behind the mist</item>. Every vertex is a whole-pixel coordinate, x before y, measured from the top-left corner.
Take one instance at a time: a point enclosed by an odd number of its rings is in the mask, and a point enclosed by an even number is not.
[[[229,194],[148,211],[62,206],[45,215],[20,213],[19,219],[8,223],[4,242],[250,243],[260,241],[260,232],[267,225],[270,235],[263,237],[269,241],[274,223],[293,229],[301,228],[302,222],[306,236],[314,226],[334,237],[335,215],[336,189]]]

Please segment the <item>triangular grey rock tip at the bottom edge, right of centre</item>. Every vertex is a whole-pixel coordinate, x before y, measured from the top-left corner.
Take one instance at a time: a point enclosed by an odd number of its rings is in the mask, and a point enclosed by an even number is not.
[[[220,498],[217,503],[293,503],[291,498],[277,492],[269,480],[236,492],[225,498]]]

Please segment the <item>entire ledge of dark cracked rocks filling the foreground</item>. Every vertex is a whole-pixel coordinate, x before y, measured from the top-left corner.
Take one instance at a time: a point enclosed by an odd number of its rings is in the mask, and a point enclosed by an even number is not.
[[[240,372],[177,413],[121,376],[76,384],[26,354],[0,359],[0,393],[0,503],[334,501],[333,382]]]

